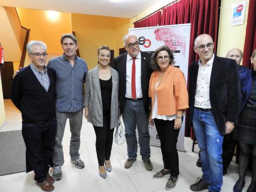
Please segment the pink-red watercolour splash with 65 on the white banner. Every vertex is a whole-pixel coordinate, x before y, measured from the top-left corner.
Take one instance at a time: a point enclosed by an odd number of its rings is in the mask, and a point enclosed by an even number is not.
[[[156,41],[164,42],[175,53],[181,53],[184,57],[186,55],[186,39],[182,37],[180,30],[170,28],[160,28],[154,31]]]

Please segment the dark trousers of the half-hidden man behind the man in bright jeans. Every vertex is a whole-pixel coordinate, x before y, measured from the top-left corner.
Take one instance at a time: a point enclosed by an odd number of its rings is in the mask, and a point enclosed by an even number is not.
[[[222,143],[222,164],[223,170],[227,170],[230,162],[232,161],[233,155],[235,153],[237,141],[233,139],[232,131],[229,134],[225,134]]]

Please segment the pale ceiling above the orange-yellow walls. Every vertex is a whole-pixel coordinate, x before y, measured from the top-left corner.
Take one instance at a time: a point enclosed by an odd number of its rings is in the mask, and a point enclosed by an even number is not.
[[[116,0],[117,1],[117,0]],[[0,0],[0,6],[133,18],[157,0]]]

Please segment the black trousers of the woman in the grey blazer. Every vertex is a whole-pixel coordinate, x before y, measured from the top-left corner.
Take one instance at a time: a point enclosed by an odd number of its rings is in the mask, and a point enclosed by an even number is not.
[[[110,113],[103,115],[103,127],[93,126],[96,134],[96,152],[98,163],[104,165],[105,160],[110,159],[114,129],[110,129]]]

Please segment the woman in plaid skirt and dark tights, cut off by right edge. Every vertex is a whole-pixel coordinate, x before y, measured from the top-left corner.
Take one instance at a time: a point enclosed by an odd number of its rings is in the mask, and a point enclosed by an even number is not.
[[[241,192],[245,185],[245,174],[252,153],[252,181],[247,192],[256,191],[256,49],[252,52],[251,63],[253,69],[247,78],[246,97],[242,98],[243,110],[238,117],[234,130],[234,138],[238,140],[239,154],[239,179],[233,188],[234,192]]]

